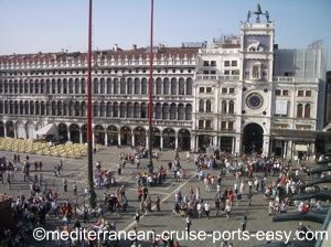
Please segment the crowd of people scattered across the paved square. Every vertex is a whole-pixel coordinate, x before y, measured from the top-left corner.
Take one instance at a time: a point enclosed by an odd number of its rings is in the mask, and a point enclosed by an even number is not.
[[[106,169],[106,165],[102,162],[96,162],[95,186],[98,190],[105,190],[105,192],[103,201],[99,201],[95,208],[90,208],[86,204],[89,196],[88,189],[81,193],[76,182],[68,184],[66,178],[63,178],[64,194],[61,194],[57,187],[50,186],[50,183],[43,176],[41,160],[32,162],[29,155],[21,159],[19,154],[14,154],[12,161],[2,158],[0,160],[0,180],[2,184],[8,184],[10,190],[10,184],[14,181],[14,173],[21,170],[23,182],[29,184],[30,194],[21,194],[13,198],[11,211],[17,227],[14,230],[6,229],[0,233],[0,239],[7,243],[8,246],[23,244],[29,234],[31,235],[31,230],[39,225],[45,225],[49,218],[61,221],[62,230],[79,228],[83,225],[93,229],[116,230],[116,222],[107,219],[106,213],[108,212],[117,216],[130,215],[135,212],[135,229],[138,229],[142,215],[153,214],[153,212],[160,212],[162,208],[160,195],[149,193],[151,187],[162,186],[168,180],[180,184],[186,179],[186,171],[181,164],[182,160],[178,150],[174,152],[172,161],[161,163],[156,167],[153,172],[148,172],[145,168],[141,168],[141,159],[146,154],[146,149],[141,147],[134,149],[132,152],[120,151],[116,165],[117,172],[115,168],[113,170]],[[157,157],[159,158],[159,155],[158,153]],[[186,162],[192,162],[192,167],[195,165],[197,186],[191,186],[186,194],[178,189],[174,193],[172,211],[174,215],[184,218],[183,227],[188,232],[192,230],[192,222],[201,218],[224,217],[229,221],[234,214],[234,207],[238,207],[242,201],[249,206],[253,196],[259,194],[265,196],[267,201],[266,208],[269,215],[286,213],[291,204],[291,195],[301,193],[305,184],[302,181],[302,174],[306,171],[305,165],[298,165],[295,171],[295,165],[291,162],[285,162],[275,157],[265,154],[236,157],[225,152],[218,154],[196,152],[193,153],[193,157],[191,161],[191,153],[188,152],[185,159]],[[31,171],[32,164],[34,164],[34,171]],[[132,184],[136,182],[137,186],[136,198],[128,197],[126,185],[116,181],[116,176],[121,176],[128,165],[130,165],[130,169],[136,169],[132,173]],[[62,171],[63,161],[60,160],[54,167],[54,178],[62,179]],[[228,181],[232,181],[233,184],[228,185]],[[204,189],[204,192],[201,191],[202,189]],[[74,198],[82,194],[83,202],[77,204],[76,200],[65,200],[65,197],[68,197],[66,194],[68,191],[73,192]],[[137,201],[139,206],[134,207],[134,203],[130,204],[132,201]],[[311,207],[323,208],[319,201],[314,203],[298,202],[296,206],[302,213],[309,212]],[[246,215],[238,225],[246,229]],[[89,246],[108,246],[109,241],[96,243],[90,240],[85,244]],[[160,244],[169,247],[180,246],[174,239],[151,240],[152,246]],[[68,245],[79,246],[82,241],[72,241]],[[138,240],[132,241],[131,245],[138,246]],[[222,246],[232,246],[232,244],[222,243]]]

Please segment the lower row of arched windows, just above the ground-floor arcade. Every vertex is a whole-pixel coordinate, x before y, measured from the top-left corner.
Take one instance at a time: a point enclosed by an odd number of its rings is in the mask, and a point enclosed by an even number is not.
[[[0,101],[0,114],[31,116],[86,116],[86,101]],[[93,105],[94,117],[147,118],[148,104],[100,101]],[[191,120],[191,104],[157,103],[153,105],[153,118],[164,120]]]

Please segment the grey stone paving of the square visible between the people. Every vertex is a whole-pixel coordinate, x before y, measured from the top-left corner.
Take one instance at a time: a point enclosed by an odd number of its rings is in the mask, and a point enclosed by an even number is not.
[[[117,161],[119,160],[119,152],[128,152],[131,153],[134,150],[127,149],[127,148],[104,148],[99,150],[94,155],[94,163],[96,161],[100,161],[104,169],[113,169],[114,171],[117,171]],[[6,155],[8,159],[12,160],[13,153],[11,152],[0,152],[0,155]],[[174,151],[163,151],[160,154],[160,158],[158,161],[154,160],[154,168],[162,164],[164,168],[167,168],[168,162],[173,161],[174,159]],[[23,159],[26,154],[21,153],[21,159]],[[38,159],[42,160],[43,162],[43,170],[42,174],[44,178],[44,181],[47,183],[49,187],[55,189],[60,194],[60,201],[64,201],[65,198],[68,198],[72,204],[78,203],[82,205],[83,197],[75,198],[73,195],[72,184],[74,182],[77,183],[78,186],[78,194],[82,194],[84,189],[87,186],[87,158],[83,159],[62,159],[63,160],[63,171],[61,173],[60,178],[55,178],[53,168],[56,163],[60,162],[60,158],[50,158],[50,157],[40,157],[40,155],[33,155],[29,154],[31,163]],[[211,217],[207,219],[205,216],[202,218],[192,218],[192,230],[205,230],[207,234],[212,234],[213,230],[237,230],[241,228],[241,219],[244,215],[247,216],[247,229],[250,233],[255,233],[257,230],[293,230],[298,227],[298,222],[284,222],[284,223],[273,223],[273,217],[268,216],[268,207],[267,202],[265,201],[263,194],[260,192],[255,193],[253,197],[253,203],[250,206],[248,206],[248,201],[246,196],[243,196],[243,200],[239,202],[238,206],[234,206],[229,219],[227,221],[225,215],[218,215],[215,216],[214,211],[214,198],[216,191],[213,190],[212,192],[206,192],[204,189],[204,184],[199,182],[195,178],[195,165],[193,163],[193,155],[191,155],[191,161],[185,160],[185,153],[180,152],[181,158],[181,165],[183,167],[186,178],[182,182],[177,182],[172,178],[172,174],[168,173],[168,179],[164,185],[162,186],[152,186],[149,187],[149,195],[151,195],[152,200],[156,198],[157,195],[161,198],[161,212],[151,212],[148,215],[143,215],[140,219],[138,229],[143,230],[151,230],[153,229],[157,234],[160,234],[162,230],[185,230],[185,217],[178,216],[172,213],[173,205],[174,205],[174,194],[180,189],[182,192],[182,195],[189,194],[189,190],[192,186],[195,191],[196,187],[200,189],[201,196],[204,201],[209,201],[212,205],[211,211]],[[142,165],[147,164],[147,159],[142,159],[141,163]],[[34,167],[31,167],[31,178],[34,176]],[[104,215],[104,218],[108,219],[109,222],[115,222],[117,225],[117,229],[125,229],[129,230],[132,229],[135,225],[134,215],[136,212],[136,208],[139,208],[139,202],[137,201],[137,192],[136,192],[136,182],[132,178],[132,174],[136,172],[136,168],[131,165],[130,163],[126,164],[126,168],[122,170],[122,175],[118,176],[116,175],[117,182],[119,184],[125,184],[126,186],[126,195],[129,200],[129,211],[128,213],[124,213],[121,215],[116,215],[107,212]],[[210,170],[207,172],[211,172],[213,175],[217,175],[220,173],[220,170],[214,169]],[[39,173],[39,172],[38,172]],[[63,191],[63,179],[66,179],[68,181],[68,192]],[[269,178],[270,181],[275,178]],[[233,186],[234,184],[234,176],[231,174],[227,174],[226,179],[222,180],[222,187],[225,186]],[[115,187],[110,187],[109,191],[114,191]],[[247,192],[247,184],[246,184],[246,192]],[[21,194],[24,193],[26,195],[30,194],[29,189],[29,182],[23,182],[21,167],[18,165],[18,171],[14,172],[14,182],[8,189],[6,184],[0,184],[0,192],[7,193],[9,195],[12,195],[14,198]],[[98,195],[98,203],[102,203],[103,201],[103,193],[106,192],[106,189],[97,189],[96,190]],[[293,208],[291,208],[293,210]],[[79,216],[78,216],[79,217]],[[97,218],[92,218],[90,223],[96,222]],[[88,224],[90,224],[88,223]],[[317,223],[305,223],[306,225],[310,225],[312,229],[320,229],[321,225]],[[56,226],[62,225],[62,218],[54,218],[53,216],[50,216],[46,219],[46,226],[47,229],[54,229]],[[84,224],[83,224],[84,225]],[[195,240],[195,241],[185,241],[185,240],[179,240],[181,246],[221,246],[221,241],[213,243],[211,237],[207,237],[206,240],[203,243]],[[255,245],[261,245],[265,244],[265,241],[258,241],[254,238],[250,238],[249,241],[241,241],[235,237],[233,240],[231,240],[235,247],[239,246],[255,246]],[[50,241],[42,241],[42,243],[35,243],[30,241],[31,246],[53,246],[55,243]],[[148,243],[141,243],[142,246],[151,246]],[[130,246],[129,243],[121,243],[121,246]]]

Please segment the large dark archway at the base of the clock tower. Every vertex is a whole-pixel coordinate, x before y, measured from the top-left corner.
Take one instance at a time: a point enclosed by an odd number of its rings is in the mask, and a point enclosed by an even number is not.
[[[257,124],[249,124],[243,130],[243,152],[261,153],[264,146],[264,129]]]

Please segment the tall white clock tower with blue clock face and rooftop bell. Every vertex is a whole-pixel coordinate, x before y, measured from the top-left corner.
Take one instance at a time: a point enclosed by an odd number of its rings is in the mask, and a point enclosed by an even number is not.
[[[274,22],[259,3],[241,26],[242,152],[269,152]]]

